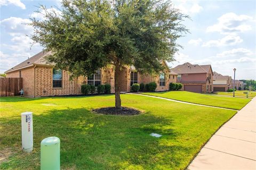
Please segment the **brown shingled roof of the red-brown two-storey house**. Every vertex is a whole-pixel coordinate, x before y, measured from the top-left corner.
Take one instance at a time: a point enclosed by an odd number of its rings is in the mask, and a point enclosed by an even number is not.
[[[208,73],[211,69],[211,65],[198,65],[184,63],[178,66],[175,66],[171,71],[174,71],[178,74],[191,74],[191,73]]]

